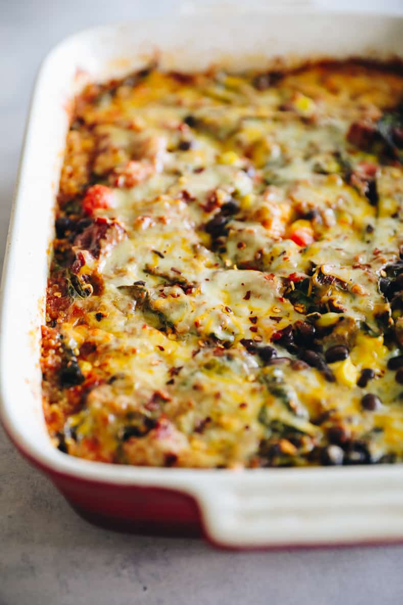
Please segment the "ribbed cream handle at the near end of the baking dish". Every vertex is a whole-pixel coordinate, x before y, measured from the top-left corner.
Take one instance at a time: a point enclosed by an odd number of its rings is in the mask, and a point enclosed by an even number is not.
[[[229,548],[402,539],[402,469],[379,476],[373,468],[359,476],[353,469],[315,469],[320,480],[309,470],[284,470],[267,469],[264,477],[251,471],[237,486],[200,486],[195,498],[208,538]]]

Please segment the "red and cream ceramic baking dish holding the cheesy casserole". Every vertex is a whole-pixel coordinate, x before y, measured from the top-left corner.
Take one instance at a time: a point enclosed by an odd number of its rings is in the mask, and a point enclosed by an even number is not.
[[[212,63],[264,68],[275,55],[292,62],[298,56],[375,51],[402,55],[402,25],[403,19],[376,15],[319,13],[312,19],[309,11],[270,15],[267,22],[253,15],[197,25],[188,19],[142,22],[77,34],[45,60],[31,106],[2,283],[1,414],[16,446],[86,517],[154,531],[202,527],[212,541],[229,547],[403,538],[401,465],[194,471],[117,467],[65,456],[47,436],[39,370],[68,101],[85,83],[143,67],[156,42],[162,68],[183,71]]]

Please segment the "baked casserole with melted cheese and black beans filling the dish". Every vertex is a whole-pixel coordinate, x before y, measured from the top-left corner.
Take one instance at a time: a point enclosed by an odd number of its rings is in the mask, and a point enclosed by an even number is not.
[[[403,460],[403,76],[162,73],[76,99],[42,327],[74,456]]]

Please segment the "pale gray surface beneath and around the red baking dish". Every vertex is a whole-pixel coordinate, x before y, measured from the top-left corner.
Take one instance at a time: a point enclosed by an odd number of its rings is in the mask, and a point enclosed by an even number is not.
[[[74,30],[139,14],[161,17],[175,5],[0,1],[1,254],[41,57]],[[402,568],[402,546],[236,553],[215,551],[200,540],[94,528],[0,430],[0,605],[399,605]]]

